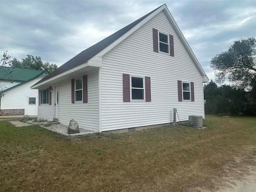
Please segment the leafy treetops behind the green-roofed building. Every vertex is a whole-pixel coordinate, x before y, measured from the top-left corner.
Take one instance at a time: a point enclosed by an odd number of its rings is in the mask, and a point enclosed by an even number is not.
[[[52,72],[58,68],[56,64],[50,64],[49,62],[42,62],[41,57],[27,55],[26,58],[22,59],[22,62],[14,58],[12,60],[12,65],[14,67],[26,68],[26,69],[35,69],[35,70],[48,70]]]

